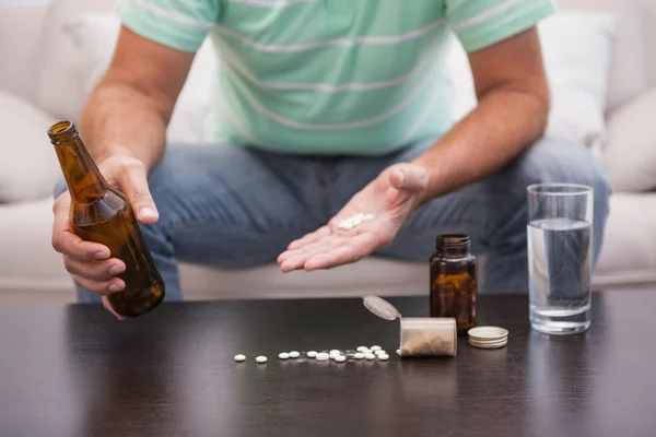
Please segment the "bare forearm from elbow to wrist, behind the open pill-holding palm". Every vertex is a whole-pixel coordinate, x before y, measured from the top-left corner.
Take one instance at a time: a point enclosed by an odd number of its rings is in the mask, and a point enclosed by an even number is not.
[[[429,172],[423,201],[457,190],[501,169],[544,132],[548,97],[512,88],[484,95],[430,151],[414,160]]]

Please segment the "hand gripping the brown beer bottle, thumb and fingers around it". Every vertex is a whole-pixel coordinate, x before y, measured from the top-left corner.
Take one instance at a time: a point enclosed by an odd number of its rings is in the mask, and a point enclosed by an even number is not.
[[[147,172],[141,161],[115,155],[98,163],[98,168],[108,184],[128,197],[140,223],[152,224],[157,221],[157,210],[148,189]],[[107,296],[125,288],[126,284],[117,275],[126,270],[126,265],[119,259],[109,258],[109,248],[106,246],[84,241],[75,235],[69,218],[70,209],[71,197],[66,191],[52,205],[52,247],[63,256],[63,265],[75,284],[103,296],[105,308],[122,320],[124,317],[112,309]]]

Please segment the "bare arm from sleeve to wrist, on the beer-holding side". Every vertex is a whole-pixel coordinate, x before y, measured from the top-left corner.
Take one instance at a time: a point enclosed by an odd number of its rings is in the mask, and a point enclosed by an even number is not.
[[[194,60],[122,27],[112,63],[91,93],[80,131],[97,162],[133,157],[150,170],[166,144],[166,127]]]

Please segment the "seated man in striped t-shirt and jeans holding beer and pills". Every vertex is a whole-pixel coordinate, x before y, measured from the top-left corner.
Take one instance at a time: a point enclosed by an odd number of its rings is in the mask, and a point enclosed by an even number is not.
[[[535,25],[552,10],[550,0],[120,0],[114,59],[80,129],[137,212],[169,299],[181,298],[177,261],[277,260],[289,272],[371,253],[426,260],[435,236],[455,231],[489,256],[481,293],[525,290],[526,187],[595,188],[595,261],[610,194],[582,145],[541,139],[549,92]],[[479,101],[457,123],[450,33]],[[166,146],[208,34],[222,64],[215,144]],[[65,192],[54,247],[79,299],[99,300],[122,288],[125,265],[71,233],[69,206]],[[360,212],[374,218],[338,227]]]

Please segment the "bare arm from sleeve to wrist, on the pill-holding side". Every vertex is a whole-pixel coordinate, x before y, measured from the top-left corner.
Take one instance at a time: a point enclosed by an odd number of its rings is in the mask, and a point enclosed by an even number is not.
[[[422,202],[495,173],[544,132],[549,88],[535,27],[469,62],[479,105],[413,162],[429,173]]]

